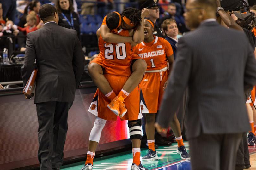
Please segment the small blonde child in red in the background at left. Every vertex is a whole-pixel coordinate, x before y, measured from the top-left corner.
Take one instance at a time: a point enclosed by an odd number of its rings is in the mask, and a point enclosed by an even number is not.
[[[26,20],[27,20],[27,26],[25,28],[18,26],[18,29],[20,31],[24,32],[26,35],[29,32],[36,31],[39,28],[43,27],[43,23],[39,23],[38,25],[36,25],[37,17],[36,17],[36,13],[34,11],[31,11],[30,14],[28,14],[26,16]]]

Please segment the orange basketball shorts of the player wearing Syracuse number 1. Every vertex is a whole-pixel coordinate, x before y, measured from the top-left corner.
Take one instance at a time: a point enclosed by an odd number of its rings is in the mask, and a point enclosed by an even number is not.
[[[164,83],[168,79],[169,70],[160,72],[146,72],[139,84],[140,108],[142,113],[156,113],[160,109],[164,95]]]

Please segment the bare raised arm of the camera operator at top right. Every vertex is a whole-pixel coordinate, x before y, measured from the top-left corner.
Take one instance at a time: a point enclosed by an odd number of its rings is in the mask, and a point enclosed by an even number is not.
[[[216,0],[217,2],[217,7],[220,7],[220,0]],[[235,30],[238,30],[238,31],[244,31],[242,29],[241,26],[239,26],[235,20],[233,20],[233,18],[226,13],[226,11],[224,10],[219,10],[218,11],[218,14],[220,15],[221,19],[223,20],[223,22],[229,27],[229,28],[233,28]]]

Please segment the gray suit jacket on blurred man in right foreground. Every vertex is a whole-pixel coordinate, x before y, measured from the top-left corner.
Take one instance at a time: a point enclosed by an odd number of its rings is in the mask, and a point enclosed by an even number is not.
[[[187,135],[250,129],[244,92],[256,84],[256,61],[246,35],[205,22],[178,42],[174,69],[157,122],[168,127],[189,88]]]

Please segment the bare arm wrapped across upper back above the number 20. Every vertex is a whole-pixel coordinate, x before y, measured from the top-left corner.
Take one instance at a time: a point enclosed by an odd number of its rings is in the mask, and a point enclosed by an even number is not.
[[[108,43],[131,43],[132,37],[120,36],[111,32],[107,25],[101,25],[100,34],[104,41]]]

